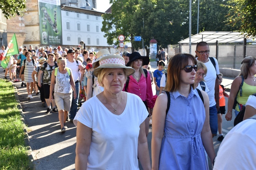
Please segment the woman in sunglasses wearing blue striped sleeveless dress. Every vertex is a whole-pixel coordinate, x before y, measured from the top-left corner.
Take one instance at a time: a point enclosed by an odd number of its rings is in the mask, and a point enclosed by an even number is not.
[[[152,169],[207,170],[215,157],[209,124],[209,98],[195,89],[197,61],[191,54],[177,54],[168,65],[165,90],[158,96],[152,122]]]

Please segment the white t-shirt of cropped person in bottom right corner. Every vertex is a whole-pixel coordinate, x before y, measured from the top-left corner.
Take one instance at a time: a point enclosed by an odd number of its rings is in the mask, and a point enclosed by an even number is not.
[[[255,129],[255,119],[246,119],[231,129],[221,142],[213,170],[255,169]]]

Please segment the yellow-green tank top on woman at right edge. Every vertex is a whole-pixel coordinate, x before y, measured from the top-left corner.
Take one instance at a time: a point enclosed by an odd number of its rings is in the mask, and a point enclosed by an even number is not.
[[[242,86],[242,96],[240,96],[240,90],[239,90],[237,95],[237,102],[239,104],[245,105],[245,103],[248,100],[248,97],[254,93],[256,93],[256,86],[251,86],[244,82]],[[236,106],[236,111],[240,112],[238,104]]]

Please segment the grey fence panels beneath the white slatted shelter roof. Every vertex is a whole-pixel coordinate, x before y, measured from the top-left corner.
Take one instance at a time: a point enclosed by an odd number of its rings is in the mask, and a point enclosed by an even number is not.
[[[234,68],[240,69],[243,60],[243,44],[209,44],[210,57],[217,56],[219,68]],[[172,57],[178,53],[189,53],[189,45],[169,45],[168,56]],[[191,53],[195,55],[196,44],[191,45]],[[256,56],[256,45],[246,45],[246,56]]]

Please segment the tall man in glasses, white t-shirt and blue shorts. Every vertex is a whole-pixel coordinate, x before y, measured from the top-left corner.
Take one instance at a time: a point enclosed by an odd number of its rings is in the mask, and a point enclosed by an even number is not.
[[[199,42],[196,46],[195,52],[197,56],[196,59],[204,63],[204,65],[207,67],[207,76],[204,78],[204,80],[207,83],[209,89],[207,94],[210,100],[210,128],[212,132],[212,137],[214,137],[218,131],[217,111],[219,109],[219,83],[217,74],[219,74],[219,65],[218,61],[215,58],[212,58],[215,62],[215,67],[213,62],[210,60],[210,49],[209,45],[206,42]]]

